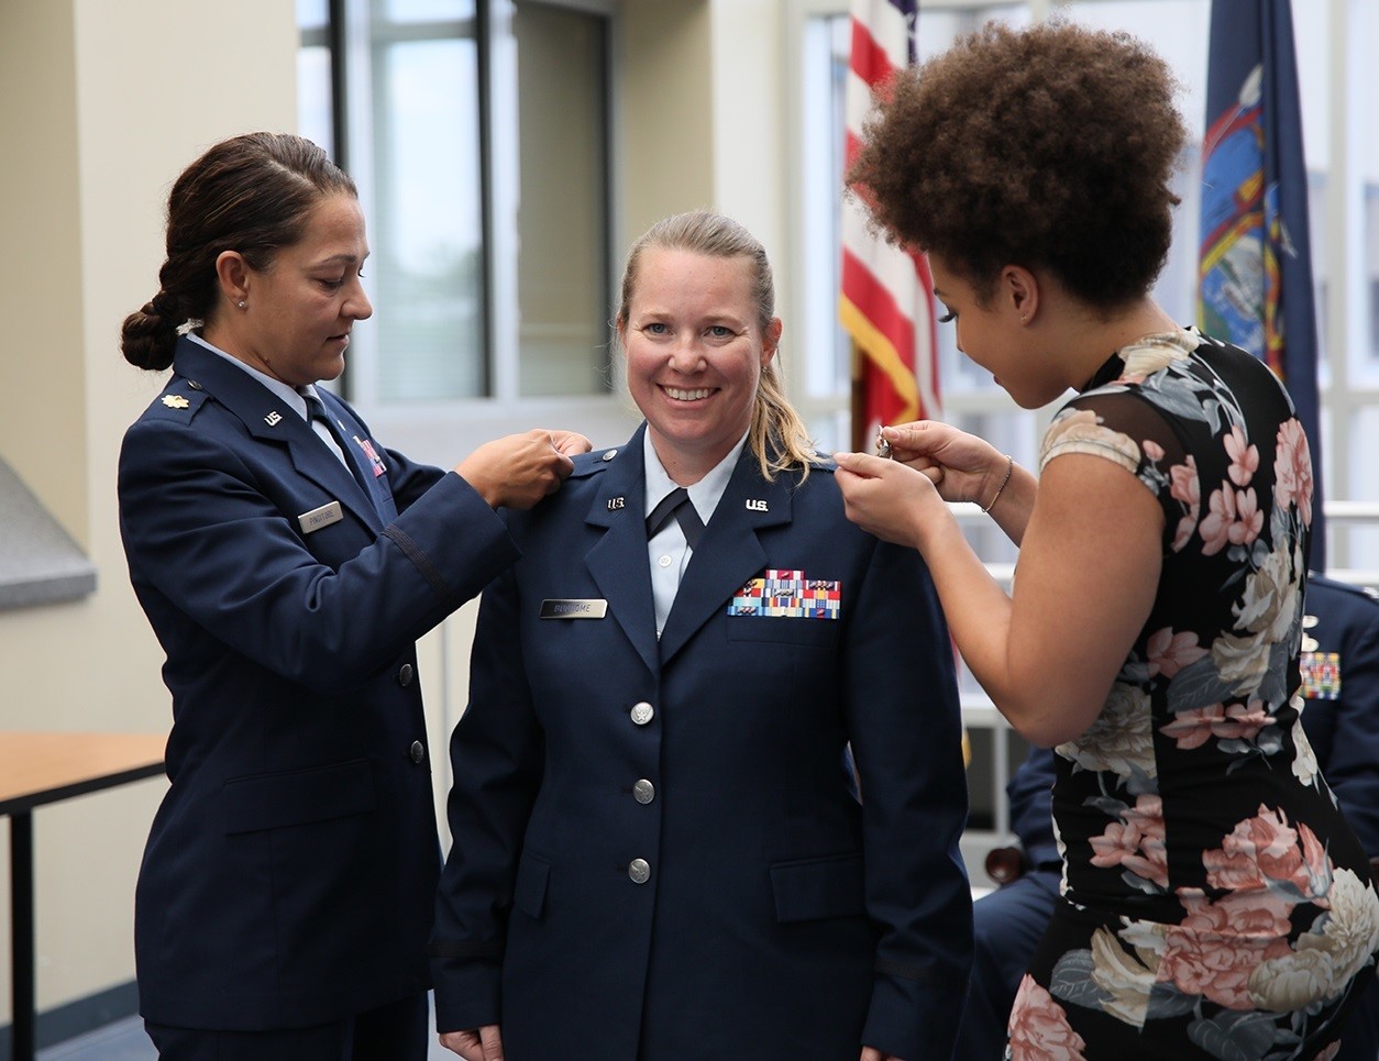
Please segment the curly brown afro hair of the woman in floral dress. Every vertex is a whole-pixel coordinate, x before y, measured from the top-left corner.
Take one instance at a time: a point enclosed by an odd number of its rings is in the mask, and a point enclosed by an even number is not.
[[[1114,309],[1168,255],[1178,90],[1125,33],[990,22],[896,74],[848,182],[888,238],[940,255],[982,299],[1022,265]]]

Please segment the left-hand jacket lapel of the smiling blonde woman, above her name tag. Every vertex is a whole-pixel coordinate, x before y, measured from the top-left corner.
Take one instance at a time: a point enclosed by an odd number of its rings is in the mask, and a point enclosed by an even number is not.
[[[652,672],[656,660],[656,616],[647,566],[647,475],[641,457],[643,424],[610,460],[585,521],[605,533],[585,555],[585,564],[608,610]],[[607,455],[605,455],[607,456]],[[619,500],[621,499],[621,500]]]

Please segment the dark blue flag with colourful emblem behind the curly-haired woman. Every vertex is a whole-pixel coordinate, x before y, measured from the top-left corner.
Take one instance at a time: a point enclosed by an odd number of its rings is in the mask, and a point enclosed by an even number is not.
[[[1311,448],[1311,558],[1325,570],[1317,310],[1288,0],[1212,0],[1198,322],[1282,379]]]

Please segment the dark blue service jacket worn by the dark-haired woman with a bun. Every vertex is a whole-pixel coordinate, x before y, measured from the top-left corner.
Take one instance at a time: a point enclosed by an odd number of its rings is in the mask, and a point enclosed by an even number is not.
[[[321,397],[368,493],[189,339],[120,452],[130,577],[172,693],[135,898],[159,1024],[305,1027],[429,984],[440,845],[414,641],[517,550],[459,475]]]

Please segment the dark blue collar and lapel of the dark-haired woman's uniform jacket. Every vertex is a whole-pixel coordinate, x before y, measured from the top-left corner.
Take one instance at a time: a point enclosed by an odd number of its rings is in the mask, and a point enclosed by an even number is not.
[[[205,391],[234,413],[254,438],[285,448],[296,471],[339,500],[374,533],[383,529],[372,499],[364,496],[359,482],[316,437],[312,426],[294,409],[283,408],[273,391],[219,354],[185,338],[178,343],[172,367],[193,390]],[[328,408],[334,411],[341,405],[335,402]],[[352,460],[353,455],[346,452],[345,459]]]

